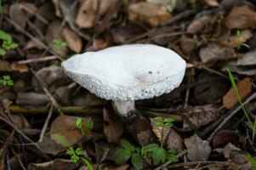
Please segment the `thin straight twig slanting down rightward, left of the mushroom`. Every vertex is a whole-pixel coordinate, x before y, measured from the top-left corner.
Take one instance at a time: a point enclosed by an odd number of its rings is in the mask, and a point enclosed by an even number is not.
[[[36,77],[37,82],[39,82],[39,84],[41,85],[41,87],[43,88],[44,93],[48,96],[48,99],[50,99],[50,101],[52,102],[52,104],[54,105],[54,107],[57,109],[57,111],[60,113],[60,115],[64,115],[64,113],[61,111],[60,105],[57,103],[57,101],[54,99],[54,96],[52,94],[50,94],[48,92],[48,89],[43,85],[45,84],[43,82],[43,80],[37,76],[36,71],[34,71],[33,69],[31,69],[31,72],[33,73],[33,75]]]

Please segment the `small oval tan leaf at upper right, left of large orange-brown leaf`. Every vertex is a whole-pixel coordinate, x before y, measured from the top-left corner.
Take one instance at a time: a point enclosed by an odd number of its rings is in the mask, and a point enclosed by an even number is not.
[[[186,31],[191,34],[196,34],[199,31],[202,31],[206,26],[208,26],[211,20],[211,16],[203,15],[202,17],[193,20]]]

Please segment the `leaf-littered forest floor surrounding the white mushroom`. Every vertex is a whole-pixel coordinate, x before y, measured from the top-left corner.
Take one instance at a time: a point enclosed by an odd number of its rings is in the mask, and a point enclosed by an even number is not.
[[[256,169],[256,1],[0,0],[0,13],[0,170]],[[127,123],[60,64],[130,43],[187,68]]]

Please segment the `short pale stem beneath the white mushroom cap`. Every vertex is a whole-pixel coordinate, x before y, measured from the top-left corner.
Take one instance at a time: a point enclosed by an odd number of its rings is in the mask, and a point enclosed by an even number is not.
[[[135,110],[134,100],[114,100],[112,101],[112,105],[120,116],[128,116],[130,111]]]

